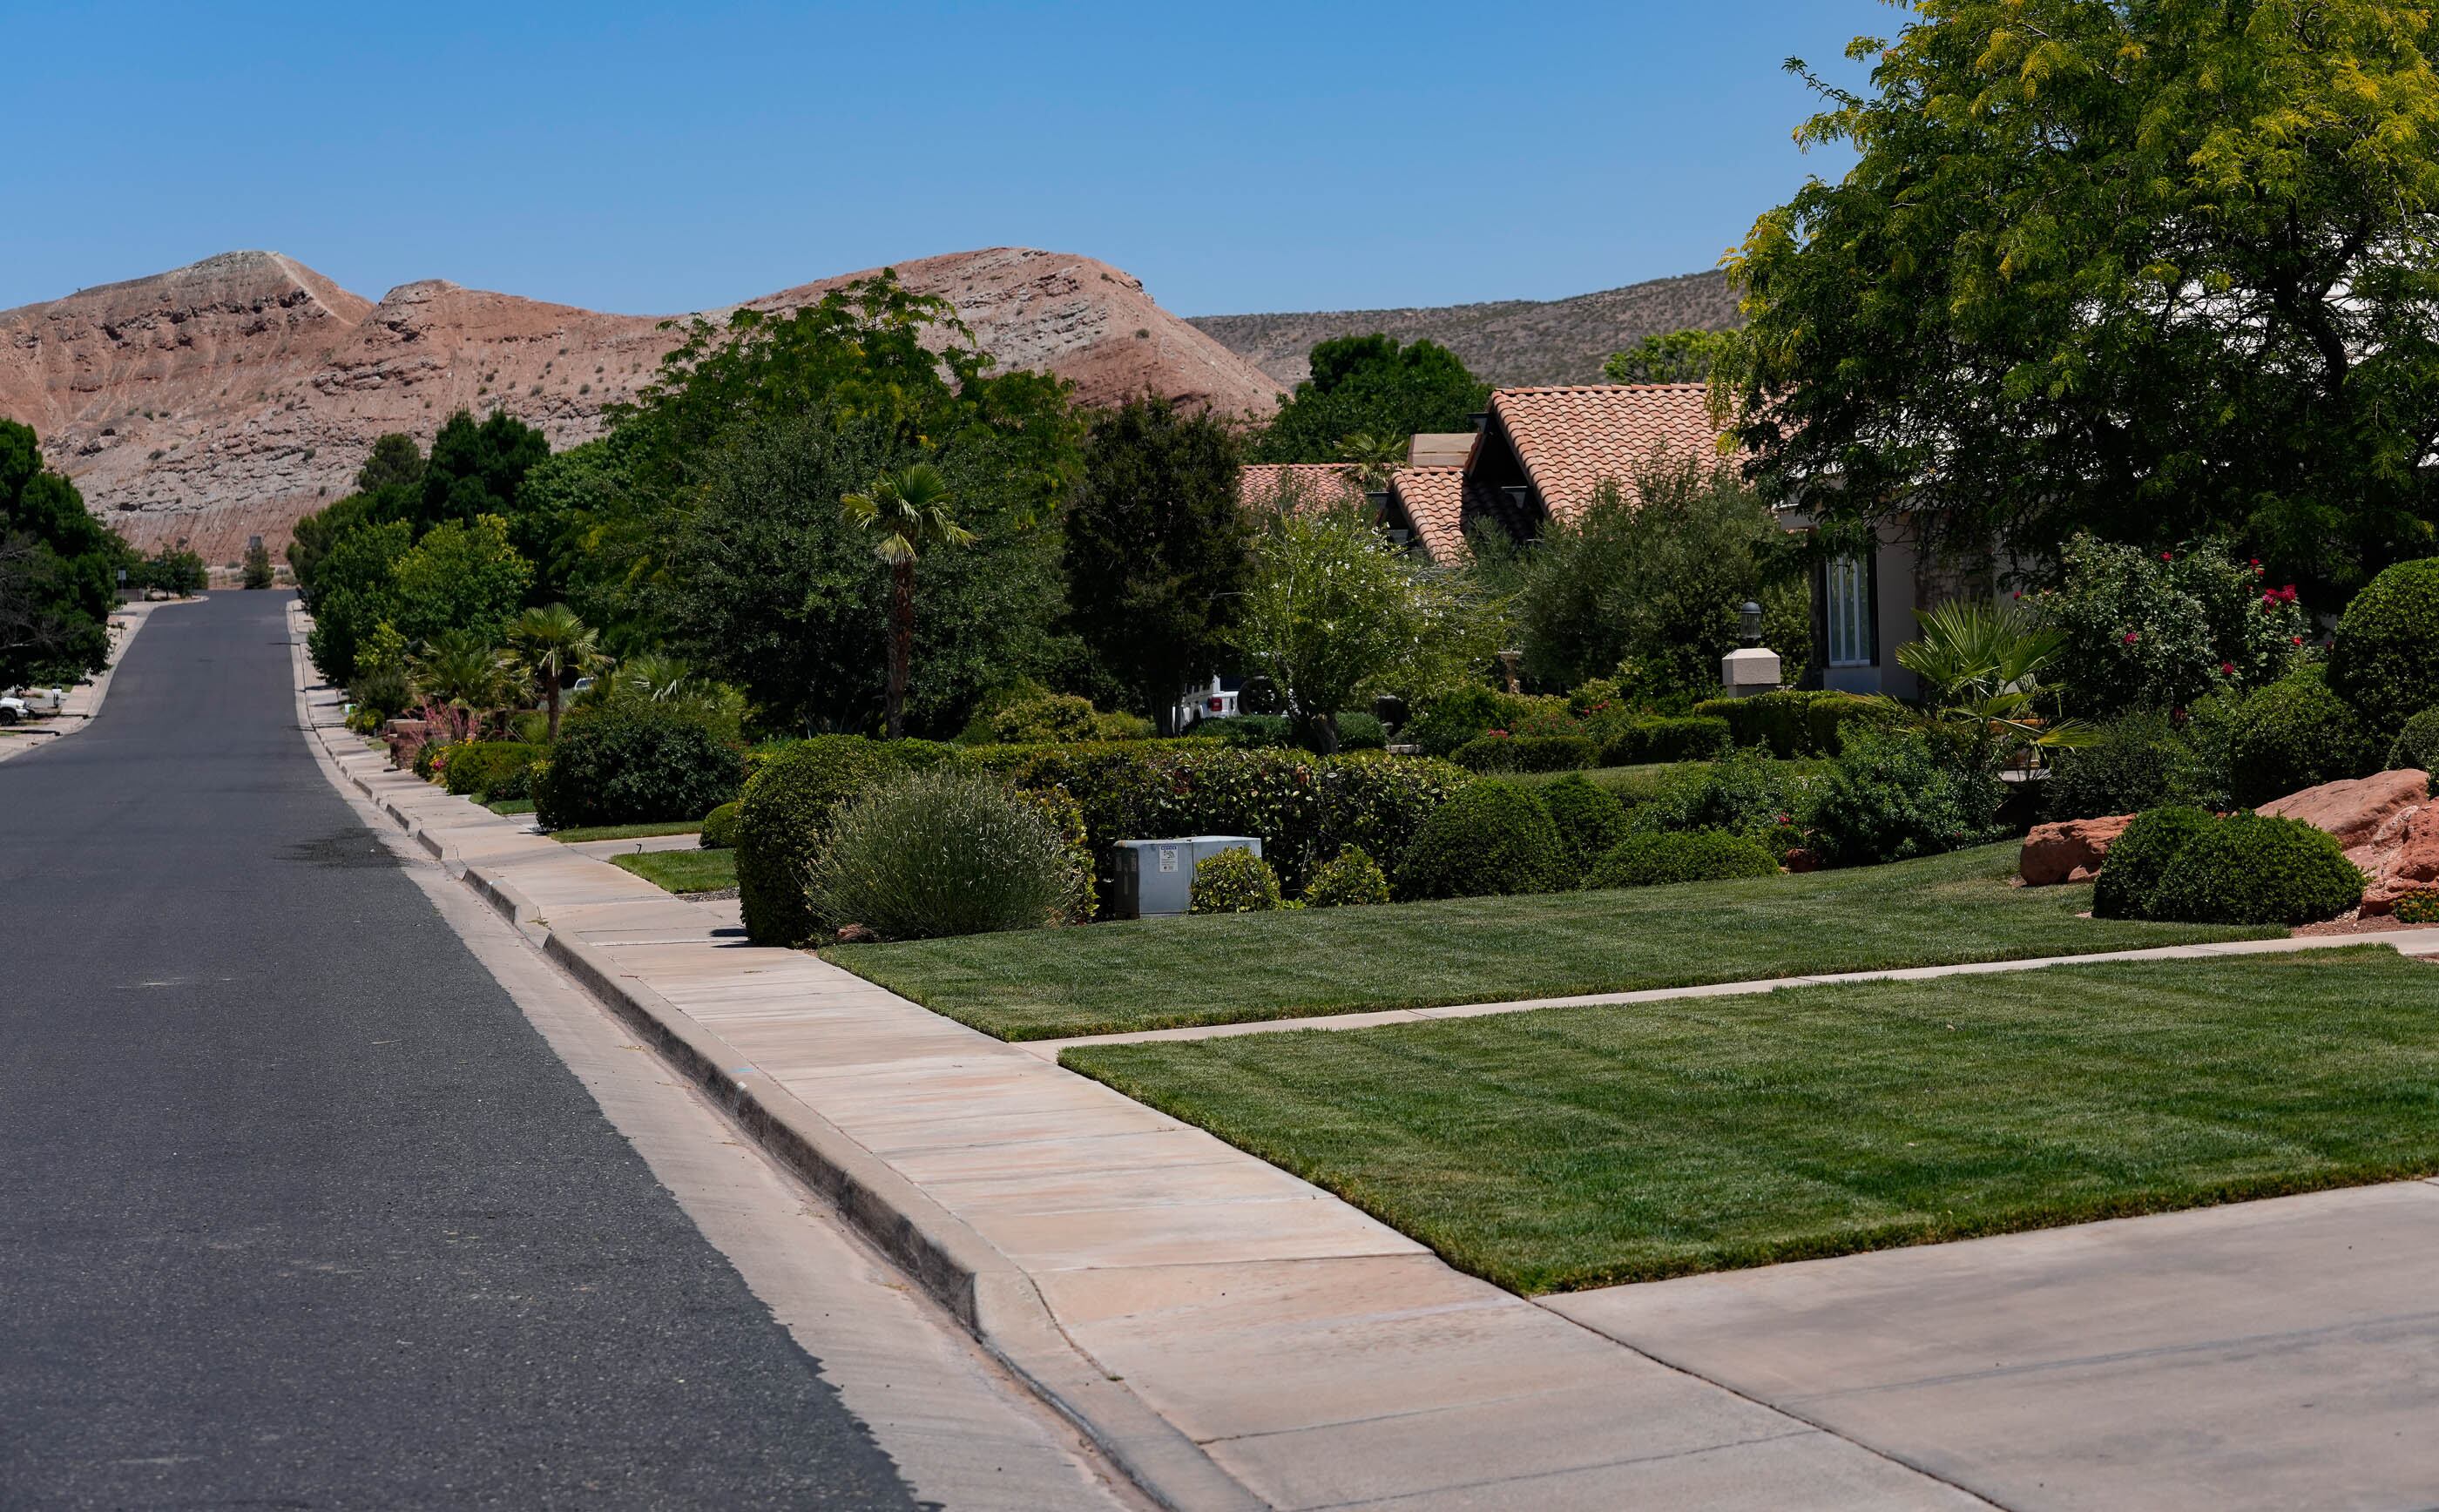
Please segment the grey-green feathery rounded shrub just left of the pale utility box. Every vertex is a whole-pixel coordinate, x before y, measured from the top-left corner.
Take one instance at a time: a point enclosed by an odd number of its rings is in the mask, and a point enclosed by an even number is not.
[[[883,939],[1066,922],[1076,866],[1059,824],[983,771],[895,768],[829,819],[805,902],[829,929]]]

